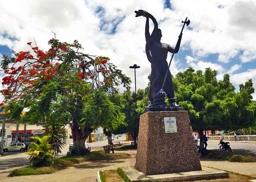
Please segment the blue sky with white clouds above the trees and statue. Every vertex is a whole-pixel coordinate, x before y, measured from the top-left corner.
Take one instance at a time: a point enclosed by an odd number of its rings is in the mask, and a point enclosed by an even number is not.
[[[229,73],[236,86],[249,78],[256,85],[255,1],[10,0],[0,2],[0,6],[3,7],[0,12],[1,55],[11,55],[10,48],[29,50],[26,43],[34,43],[34,38],[40,48],[47,49],[53,31],[61,41],[79,40],[86,53],[110,57],[131,78],[133,72],[128,67],[140,65],[137,84],[144,88],[150,73],[144,53],[145,18],[135,18],[134,14],[134,10],[143,9],[158,20],[163,34],[161,41],[171,46],[180,33],[180,22],[186,16],[191,21],[183,31],[180,51],[171,64],[172,74],[189,66],[195,70],[211,67],[218,71],[218,79]],[[151,23],[150,30],[152,28]]]

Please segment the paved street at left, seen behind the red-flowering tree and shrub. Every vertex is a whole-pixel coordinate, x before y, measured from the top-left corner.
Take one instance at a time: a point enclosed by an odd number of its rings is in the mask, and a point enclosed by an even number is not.
[[[118,139],[115,138],[113,140],[113,142],[116,143],[116,142],[121,142],[124,140],[125,140],[125,135],[123,135],[122,137],[119,137]],[[95,148],[105,146],[107,144],[108,144],[108,141],[104,140],[104,141],[100,141],[100,142],[89,143],[89,144],[86,144],[86,146],[89,145],[92,149],[95,149]],[[65,146],[62,149],[62,154],[60,154],[59,157],[65,156],[67,154],[67,152],[68,152],[68,146]],[[27,158],[28,158],[28,155],[25,152],[5,153],[4,156],[0,157],[0,172],[2,170],[6,170],[9,168],[28,165]]]

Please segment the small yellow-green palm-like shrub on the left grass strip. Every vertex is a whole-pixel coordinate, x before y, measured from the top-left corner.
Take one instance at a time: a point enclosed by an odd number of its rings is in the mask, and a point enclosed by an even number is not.
[[[42,138],[35,136],[33,139],[38,140],[39,144],[31,142],[29,145],[28,162],[35,167],[50,166],[53,164],[53,151],[48,142],[50,136],[43,136]]]

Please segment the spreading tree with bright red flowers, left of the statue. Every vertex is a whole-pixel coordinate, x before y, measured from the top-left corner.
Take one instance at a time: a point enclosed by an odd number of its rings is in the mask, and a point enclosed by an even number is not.
[[[30,51],[14,52],[14,57],[3,55],[1,67],[6,76],[2,79],[5,89],[0,91],[5,98],[2,104],[15,102],[28,108],[22,119],[31,124],[47,124],[52,115],[58,118],[56,122],[70,124],[74,154],[83,154],[86,138],[95,127],[106,122],[95,123],[88,118],[88,110],[98,109],[88,104],[97,104],[97,98],[104,98],[102,94],[117,93],[120,84],[128,87],[130,78],[110,63],[108,57],[82,52],[77,40],[69,44],[53,38],[47,51],[32,46],[32,42],[27,44]],[[118,109],[108,114],[113,116]],[[123,119],[116,117],[112,125],[122,124]]]

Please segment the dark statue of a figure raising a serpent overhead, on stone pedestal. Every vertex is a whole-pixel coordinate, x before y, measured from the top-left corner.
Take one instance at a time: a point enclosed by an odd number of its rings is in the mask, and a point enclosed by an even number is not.
[[[176,104],[174,98],[174,90],[172,84],[172,76],[166,61],[168,52],[177,53],[180,49],[180,41],[182,38],[182,32],[179,35],[178,42],[175,49],[169,44],[160,42],[162,32],[158,28],[158,23],[154,16],[144,10],[135,11],[136,17],[146,17],[145,36],[146,36],[146,55],[148,61],[151,63],[151,75],[150,75],[150,90],[148,92],[149,106],[166,107],[164,102],[164,96],[160,95],[159,91],[162,89],[169,98],[170,107],[180,107]],[[149,33],[149,18],[154,23],[154,30],[152,34]],[[182,28],[183,30],[183,28]],[[166,82],[163,84],[166,76]]]

